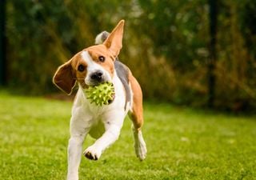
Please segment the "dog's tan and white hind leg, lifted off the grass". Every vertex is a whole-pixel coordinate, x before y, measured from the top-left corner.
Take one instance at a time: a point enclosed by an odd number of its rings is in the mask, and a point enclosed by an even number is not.
[[[146,158],[146,143],[142,136],[143,107],[142,89],[137,80],[130,74],[130,85],[133,91],[133,104],[129,112],[129,117],[133,122],[132,130],[134,133],[134,149],[140,160]]]

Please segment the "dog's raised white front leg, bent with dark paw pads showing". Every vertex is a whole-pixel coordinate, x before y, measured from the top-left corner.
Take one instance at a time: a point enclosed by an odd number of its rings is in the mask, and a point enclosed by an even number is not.
[[[84,151],[84,155],[86,156],[86,158],[98,160],[102,152],[118,139],[120,130],[122,128],[123,119],[120,119],[117,122],[118,123],[108,121],[104,122],[106,131],[101,138],[98,138],[98,140],[94,142],[92,146],[89,146]]]

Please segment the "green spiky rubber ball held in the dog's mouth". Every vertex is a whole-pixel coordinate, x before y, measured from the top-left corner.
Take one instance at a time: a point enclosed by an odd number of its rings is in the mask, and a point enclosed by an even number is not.
[[[98,86],[89,86],[86,89],[86,97],[90,99],[90,103],[95,103],[97,106],[108,105],[114,100],[114,85],[103,82]]]

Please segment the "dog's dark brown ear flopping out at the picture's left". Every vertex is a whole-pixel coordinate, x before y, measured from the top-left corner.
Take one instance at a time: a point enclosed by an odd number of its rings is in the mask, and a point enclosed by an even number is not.
[[[75,85],[75,78],[72,71],[71,61],[66,62],[62,66],[58,67],[58,70],[54,74],[54,84],[66,94],[71,94]]]

